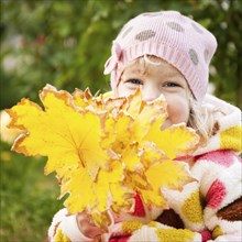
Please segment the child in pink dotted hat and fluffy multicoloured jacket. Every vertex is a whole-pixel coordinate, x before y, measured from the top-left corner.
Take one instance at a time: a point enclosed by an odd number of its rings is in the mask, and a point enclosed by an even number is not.
[[[176,11],[143,13],[130,20],[112,45],[105,74],[117,96],[138,87],[144,100],[163,95],[168,118],[162,129],[185,122],[200,135],[187,162],[196,178],[183,190],[164,190],[169,209],[145,207],[140,196],[129,215],[110,215],[103,233],[85,212],[53,219],[52,241],[241,241],[241,112],[206,95],[215,36]]]

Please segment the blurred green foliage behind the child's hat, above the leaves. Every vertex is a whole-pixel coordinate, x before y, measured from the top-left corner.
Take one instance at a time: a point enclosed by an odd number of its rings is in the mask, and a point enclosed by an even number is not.
[[[46,82],[68,91],[108,90],[103,65],[122,25],[141,12],[168,9],[216,35],[210,79],[218,97],[240,106],[240,0],[1,0],[1,109],[22,97],[37,100]]]

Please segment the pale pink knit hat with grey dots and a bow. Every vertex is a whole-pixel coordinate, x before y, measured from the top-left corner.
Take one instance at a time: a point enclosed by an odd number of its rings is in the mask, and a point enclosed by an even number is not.
[[[143,55],[154,55],[175,66],[195,98],[202,101],[216,48],[216,37],[179,12],[143,13],[130,20],[113,41],[105,74],[111,74],[111,87],[116,88],[128,63]]]

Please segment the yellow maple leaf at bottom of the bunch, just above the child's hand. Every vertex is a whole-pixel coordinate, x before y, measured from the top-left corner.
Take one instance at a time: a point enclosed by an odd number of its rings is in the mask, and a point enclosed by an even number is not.
[[[122,169],[121,163],[112,162],[111,172],[100,169],[95,182],[84,167],[65,174],[64,179],[66,180],[62,186],[62,196],[68,193],[72,195],[65,201],[69,212],[75,213],[84,209],[99,213],[107,211],[112,205],[113,197],[110,186],[119,184],[114,191],[121,195],[119,200],[125,194],[124,187],[121,186]],[[122,199],[121,204],[127,204],[127,201]]]

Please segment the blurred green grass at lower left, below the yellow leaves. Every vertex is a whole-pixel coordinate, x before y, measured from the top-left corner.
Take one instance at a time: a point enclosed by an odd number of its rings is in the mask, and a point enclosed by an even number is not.
[[[25,157],[0,145],[0,241],[47,241],[52,218],[63,207],[55,175],[44,175],[46,158]]]

